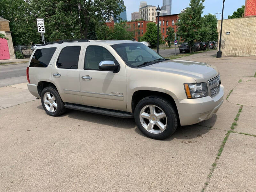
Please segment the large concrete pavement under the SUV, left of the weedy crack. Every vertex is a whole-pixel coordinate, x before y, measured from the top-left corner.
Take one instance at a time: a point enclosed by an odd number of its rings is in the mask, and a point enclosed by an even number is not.
[[[194,125],[152,140],[133,119],[52,117],[40,100],[0,116],[2,191],[200,191],[226,134]]]

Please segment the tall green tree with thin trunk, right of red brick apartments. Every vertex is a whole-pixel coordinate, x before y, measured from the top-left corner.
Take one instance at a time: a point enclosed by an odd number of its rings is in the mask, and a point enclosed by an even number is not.
[[[181,13],[176,25],[178,26],[178,36],[188,42],[190,52],[196,39],[200,39],[199,29],[202,27],[201,15],[204,9],[204,0],[190,0],[190,7]]]

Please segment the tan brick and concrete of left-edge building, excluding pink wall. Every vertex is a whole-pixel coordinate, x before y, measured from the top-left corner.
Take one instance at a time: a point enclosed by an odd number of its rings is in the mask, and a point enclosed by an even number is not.
[[[12,35],[9,27],[9,22],[10,22],[9,20],[0,17],[0,33],[4,34],[8,38],[7,45],[9,49],[10,59],[15,59],[15,53],[14,53],[13,44],[12,44]],[[1,45],[1,47],[2,46],[4,46],[4,44]],[[1,47],[0,47],[0,51],[2,50]]]

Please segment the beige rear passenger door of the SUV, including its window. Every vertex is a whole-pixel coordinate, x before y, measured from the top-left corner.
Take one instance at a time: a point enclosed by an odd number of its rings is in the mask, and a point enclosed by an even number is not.
[[[64,102],[83,104],[80,94],[81,44],[63,44],[52,67],[52,82]]]

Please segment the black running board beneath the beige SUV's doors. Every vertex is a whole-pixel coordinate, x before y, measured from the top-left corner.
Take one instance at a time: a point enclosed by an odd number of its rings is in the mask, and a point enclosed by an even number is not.
[[[64,107],[68,108],[68,109],[75,109],[75,110],[79,110],[79,111],[97,113],[100,115],[107,115],[107,116],[121,117],[121,118],[133,118],[132,113],[128,113],[128,112],[124,112],[124,111],[89,107],[89,106],[84,106],[84,105],[75,105],[75,104],[70,104],[70,103],[65,104]]]

